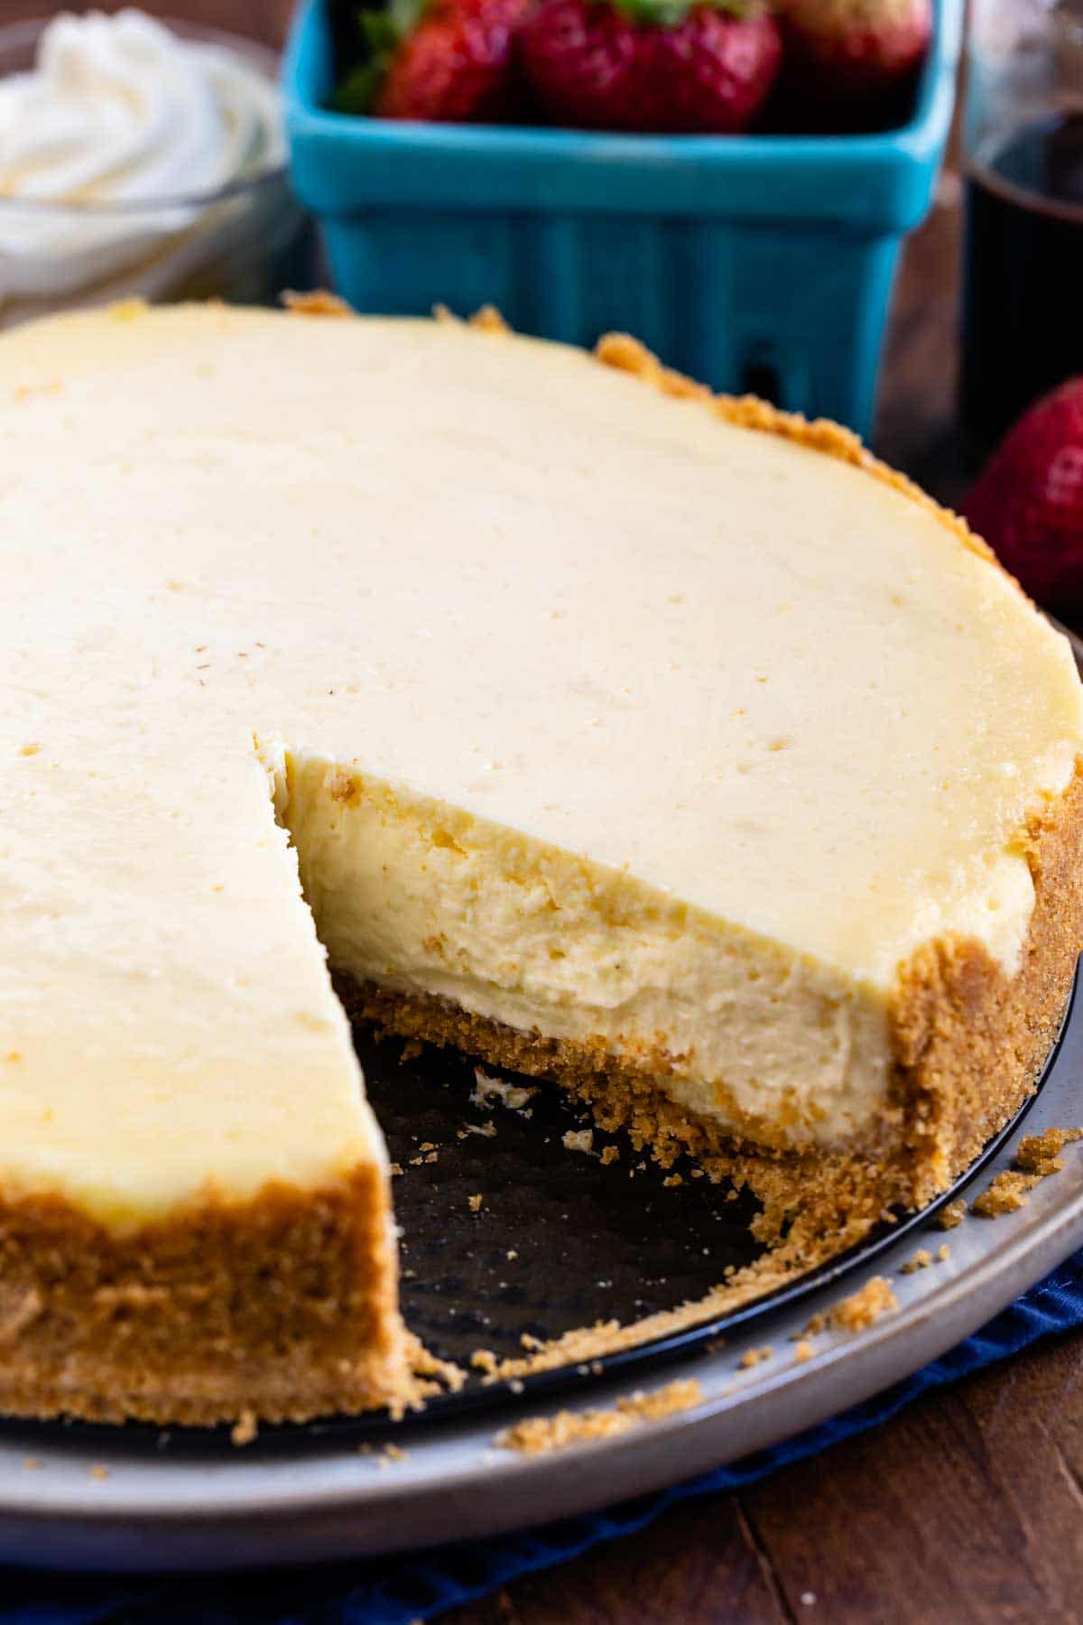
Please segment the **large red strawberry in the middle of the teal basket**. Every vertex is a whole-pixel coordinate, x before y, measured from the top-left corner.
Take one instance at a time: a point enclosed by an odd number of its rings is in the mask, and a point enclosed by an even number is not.
[[[537,0],[518,54],[555,124],[729,135],[763,106],[783,41],[763,0]]]

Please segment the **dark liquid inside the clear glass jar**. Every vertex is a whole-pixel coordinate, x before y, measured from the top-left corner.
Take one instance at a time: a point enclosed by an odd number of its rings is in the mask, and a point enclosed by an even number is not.
[[[1083,372],[1083,114],[1028,125],[971,161],[961,418],[987,452]]]

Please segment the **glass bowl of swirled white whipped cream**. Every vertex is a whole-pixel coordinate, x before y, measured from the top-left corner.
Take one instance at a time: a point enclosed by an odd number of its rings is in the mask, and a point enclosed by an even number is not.
[[[0,327],[307,286],[278,58],[141,11],[0,28]]]

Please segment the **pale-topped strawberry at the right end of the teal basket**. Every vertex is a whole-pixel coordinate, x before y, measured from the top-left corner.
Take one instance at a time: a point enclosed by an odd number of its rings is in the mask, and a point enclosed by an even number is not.
[[[913,93],[932,37],[932,0],[779,0],[792,99],[885,120]]]

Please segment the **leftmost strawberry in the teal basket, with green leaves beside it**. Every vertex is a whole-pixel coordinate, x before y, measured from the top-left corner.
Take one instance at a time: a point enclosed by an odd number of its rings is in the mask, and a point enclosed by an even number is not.
[[[529,0],[390,0],[362,10],[364,54],[334,106],[378,119],[484,124],[515,114],[511,41]]]

